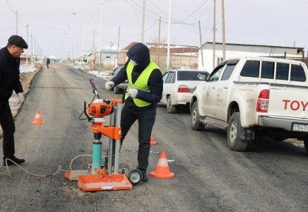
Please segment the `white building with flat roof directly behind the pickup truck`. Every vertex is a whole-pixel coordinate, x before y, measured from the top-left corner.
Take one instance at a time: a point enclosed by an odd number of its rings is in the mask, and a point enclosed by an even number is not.
[[[201,60],[201,49],[203,52],[203,65]],[[199,66],[198,69],[213,71],[213,42],[206,42],[199,49]],[[225,59],[233,57],[302,57],[302,47],[279,47],[268,45],[245,45],[226,43]],[[223,61],[223,43],[215,43],[215,66]]]

